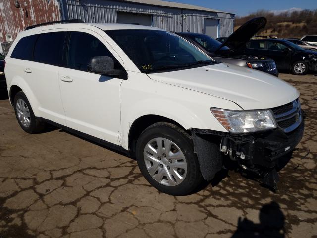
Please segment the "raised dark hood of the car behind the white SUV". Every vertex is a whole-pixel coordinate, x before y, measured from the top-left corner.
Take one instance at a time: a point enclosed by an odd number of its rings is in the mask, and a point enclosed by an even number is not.
[[[224,46],[229,47],[233,51],[238,50],[240,47],[244,46],[260,29],[264,28],[265,25],[265,17],[251,19],[234,31],[215,52],[219,51]]]

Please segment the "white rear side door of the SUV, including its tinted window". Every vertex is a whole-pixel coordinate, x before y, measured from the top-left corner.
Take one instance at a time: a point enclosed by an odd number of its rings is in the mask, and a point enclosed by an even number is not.
[[[24,71],[39,102],[41,117],[58,124],[65,124],[58,82],[58,71],[63,66],[63,47],[66,30],[45,31],[38,35],[33,51],[33,62],[25,64]]]

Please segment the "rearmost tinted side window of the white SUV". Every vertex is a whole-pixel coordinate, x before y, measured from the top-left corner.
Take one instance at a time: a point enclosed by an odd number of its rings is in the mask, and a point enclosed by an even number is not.
[[[26,36],[19,40],[13,49],[11,58],[32,60],[34,44],[38,35]]]

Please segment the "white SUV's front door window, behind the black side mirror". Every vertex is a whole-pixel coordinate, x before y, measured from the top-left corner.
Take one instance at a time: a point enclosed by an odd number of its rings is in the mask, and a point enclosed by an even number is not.
[[[67,67],[87,71],[87,65],[92,57],[108,56],[114,61],[114,68],[121,69],[122,66],[106,48],[106,46],[95,36],[73,31],[70,33],[67,52]]]

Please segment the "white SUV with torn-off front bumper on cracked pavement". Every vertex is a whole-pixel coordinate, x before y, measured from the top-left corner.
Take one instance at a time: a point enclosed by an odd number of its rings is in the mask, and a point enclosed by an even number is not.
[[[195,192],[224,161],[275,186],[284,155],[303,135],[294,87],[215,62],[162,29],[34,27],[18,34],[5,60],[23,130],[52,123],[123,150],[168,194]]]

